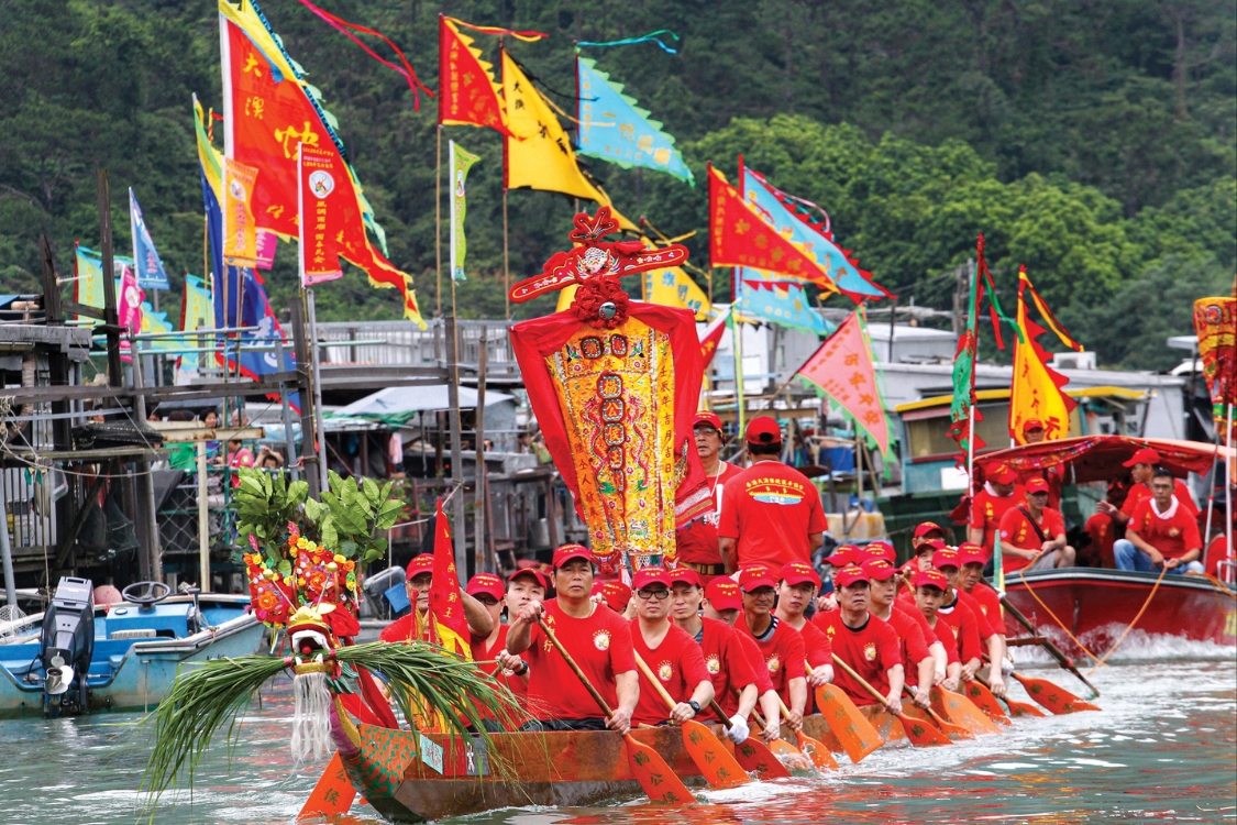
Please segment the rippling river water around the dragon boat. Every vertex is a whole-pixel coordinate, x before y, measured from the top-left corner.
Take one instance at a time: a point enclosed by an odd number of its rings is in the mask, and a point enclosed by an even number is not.
[[[1232,648],[1155,643],[1149,659],[1100,669],[1100,712],[1023,717],[1002,736],[951,747],[882,750],[816,779],[703,792],[710,804],[668,814],[636,800],[589,809],[508,809],[460,823],[633,825],[672,820],[802,823],[1237,821],[1237,659]],[[1028,665],[1085,695],[1058,669]],[[1028,700],[1018,686],[1013,695]],[[293,823],[322,766],[288,757],[287,683],[263,693],[229,756],[221,740],[187,793],[165,797],[156,823]],[[132,825],[148,753],[140,715],[0,722],[0,821]],[[143,818],[143,821],[145,818]],[[377,825],[366,805],[341,825]]]

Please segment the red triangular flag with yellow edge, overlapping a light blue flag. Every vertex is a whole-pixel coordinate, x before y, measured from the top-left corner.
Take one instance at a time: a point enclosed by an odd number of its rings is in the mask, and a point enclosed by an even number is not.
[[[764,223],[713,166],[709,166],[709,263],[751,266],[833,287],[824,270]]]

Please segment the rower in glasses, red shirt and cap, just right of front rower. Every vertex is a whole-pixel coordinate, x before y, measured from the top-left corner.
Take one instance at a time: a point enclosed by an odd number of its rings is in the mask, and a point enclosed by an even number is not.
[[[653,677],[674,700],[667,720],[666,700],[651,684],[642,684],[632,725],[682,725],[703,715],[713,701],[713,678],[704,665],[704,653],[687,631],[669,621],[670,574],[664,568],[646,566],[632,578],[636,618],[631,620],[632,651],[643,659]],[[642,674],[648,679],[647,674]]]

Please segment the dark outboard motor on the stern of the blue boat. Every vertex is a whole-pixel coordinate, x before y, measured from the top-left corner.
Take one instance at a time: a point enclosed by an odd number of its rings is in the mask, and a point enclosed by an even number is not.
[[[94,654],[94,584],[62,576],[43,615],[40,658],[43,662],[43,715],[59,716],[61,706],[75,701],[87,710],[85,677]],[[77,680],[77,695],[64,696]],[[69,701],[67,703],[66,699]]]

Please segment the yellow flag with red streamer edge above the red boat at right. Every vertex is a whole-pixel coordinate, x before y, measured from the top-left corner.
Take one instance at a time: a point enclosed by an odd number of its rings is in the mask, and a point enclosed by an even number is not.
[[[1070,413],[1077,402],[1065,395],[1069,378],[1049,366],[1049,355],[1037,340],[1045,330],[1030,318],[1028,303],[1034,301],[1045,320],[1056,330],[1061,341],[1081,351],[1082,346],[1055,323],[1048,304],[1043,303],[1027,277],[1027,267],[1018,268],[1018,340],[1013,349],[1013,377],[1009,382],[1009,435],[1019,444],[1027,439],[1023,424],[1034,418],[1044,425],[1044,438],[1055,442],[1070,434]]]

